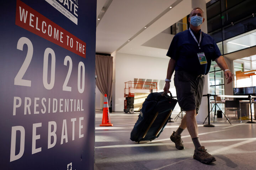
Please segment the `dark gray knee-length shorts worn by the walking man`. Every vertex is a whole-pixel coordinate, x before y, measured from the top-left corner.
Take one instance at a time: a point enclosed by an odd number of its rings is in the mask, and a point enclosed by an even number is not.
[[[175,71],[174,85],[180,107],[184,111],[196,109],[198,114],[203,96],[204,76],[193,75],[186,71]]]

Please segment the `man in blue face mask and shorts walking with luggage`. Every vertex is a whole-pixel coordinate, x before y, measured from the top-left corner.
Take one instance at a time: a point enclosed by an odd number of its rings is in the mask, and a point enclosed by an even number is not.
[[[190,29],[174,36],[167,56],[170,57],[164,91],[169,91],[170,79],[175,69],[174,84],[180,107],[186,112],[177,131],[171,135],[171,141],[177,149],[184,149],[181,140],[181,132],[188,129],[195,146],[193,158],[204,164],[209,164],[216,159],[206,152],[198,138],[196,115],[203,95],[204,75],[208,74],[210,63],[216,61],[224,70],[228,83],[233,80],[233,75],[220,54],[213,38],[201,32],[204,22],[203,10],[194,8],[190,17]]]

